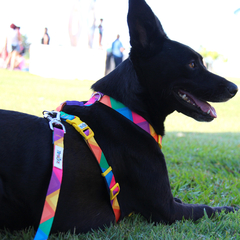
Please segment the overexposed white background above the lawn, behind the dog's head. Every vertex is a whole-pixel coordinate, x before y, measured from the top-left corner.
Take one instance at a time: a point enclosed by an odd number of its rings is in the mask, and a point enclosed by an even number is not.
[[[204,56],[210,71],[240,78],[239,0],[147,0],[168,37]],[[0,50],[11,24],[20,27],[23,61],[18,70],[51,78],[97,80],[120,35],[130,50],[128,0],[0,0]],[[102,20],[101,20],[102,19]],[[49,44],[42,44],[45,28]],[[101,35],[101,36],[100,36]],[[0,67],[4,65],[3,54]]]

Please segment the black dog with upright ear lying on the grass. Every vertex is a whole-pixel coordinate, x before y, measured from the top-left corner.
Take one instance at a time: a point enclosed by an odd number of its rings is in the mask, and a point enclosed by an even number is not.
[[[144,0],[129,0],[131,52],[117,69],[92,88],[123,103],[164,135],[164,120],[177,110],[198,121],[211,121],[206,102],[224,102],[237,86],[207,71],[202,57],[170,40]],[[152,136],[115,110],[96,102],[65,106],[95,133],[121,190],[121,218],[141,213],[155,222],[194,221],[232,207],[184,204],[171,193],[164,156]],[[37,228],[52,169],[52,131],[48,121],[1,111],[0,227]],[[115,221],[105,180],[82,136],[67,123],[64,172],[52,232],[86,232]]]

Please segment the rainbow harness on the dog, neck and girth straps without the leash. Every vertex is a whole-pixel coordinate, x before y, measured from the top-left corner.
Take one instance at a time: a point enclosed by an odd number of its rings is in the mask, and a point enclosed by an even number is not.
[[[88,102],[84,104],[84,106],[91,106],[96,101],[99,101],[108,107],[114,109],[115,111],[119,112],[121,115],[125,116],[130,121],[134,122],[136,125],[138,125],[140,128],[148,132],[158,143],[159,147],[162,148],[162,136],[157,135],[154,128],[140,115],[136,114],[135,112],[132,112],[129,108],[127,108],[122,103],[116,101],[115,99],[103,95],[100,92],[93,93],[92,97]],[[66,101],[61,106],[57,108],[58,111],[61,111],[64,105],[79,105],[83,106],[82,102],[76,102],[76,101]],[[98,143],[96,142],[93,131],[89,128],[89,126],[82,122],[78,117],[66,114],[64,112],[61,112],[61,118],[71,124],[85,139],[87,142],[89,148],[92,150],[93,154],[95,155],[100,168],[102,170],[102,176],[105,177],[109,194],[110,194],[110,201],[111,205],[115,214],[116,222],[120,218],[120,207],[117,201],[117,195],[120,191],[119,184],[116,183],[115,177],[112,172],[112,168],[108,165],[106,157],[104,153],[102,152],[101,148],[99,147]]]

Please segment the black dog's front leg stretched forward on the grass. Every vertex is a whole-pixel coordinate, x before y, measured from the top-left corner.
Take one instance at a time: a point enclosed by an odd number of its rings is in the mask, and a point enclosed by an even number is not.
[[[158,156],[158,159],[152,158],[151,162],[148,161],[148,166],[145,166],[144,169],[146,175],[141,177],[141,179],[149,179],[149,181],[141,181],[144,195],[142,192],[139,192],[139,195],[138,193],[135,194],[138,199],[142,199],[141,202],[138,201],[139,212],[147,219],[164,223],[173,223],[183,219],[196,221],[202,218],[205,212],[210,218],[216,212],[234,211],[234,208],[226,206],[210,207],[200,204],[185,204],[174,198],[164,156],[162,154]]]

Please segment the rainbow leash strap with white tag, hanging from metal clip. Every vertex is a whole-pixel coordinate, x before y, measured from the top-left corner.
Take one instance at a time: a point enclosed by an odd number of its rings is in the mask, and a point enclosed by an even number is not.
[[[53,170],[43,207],[40,225],[34,240],[48,238],[55,216],[63,175],[63,138],[64,130],[53,128]]]

